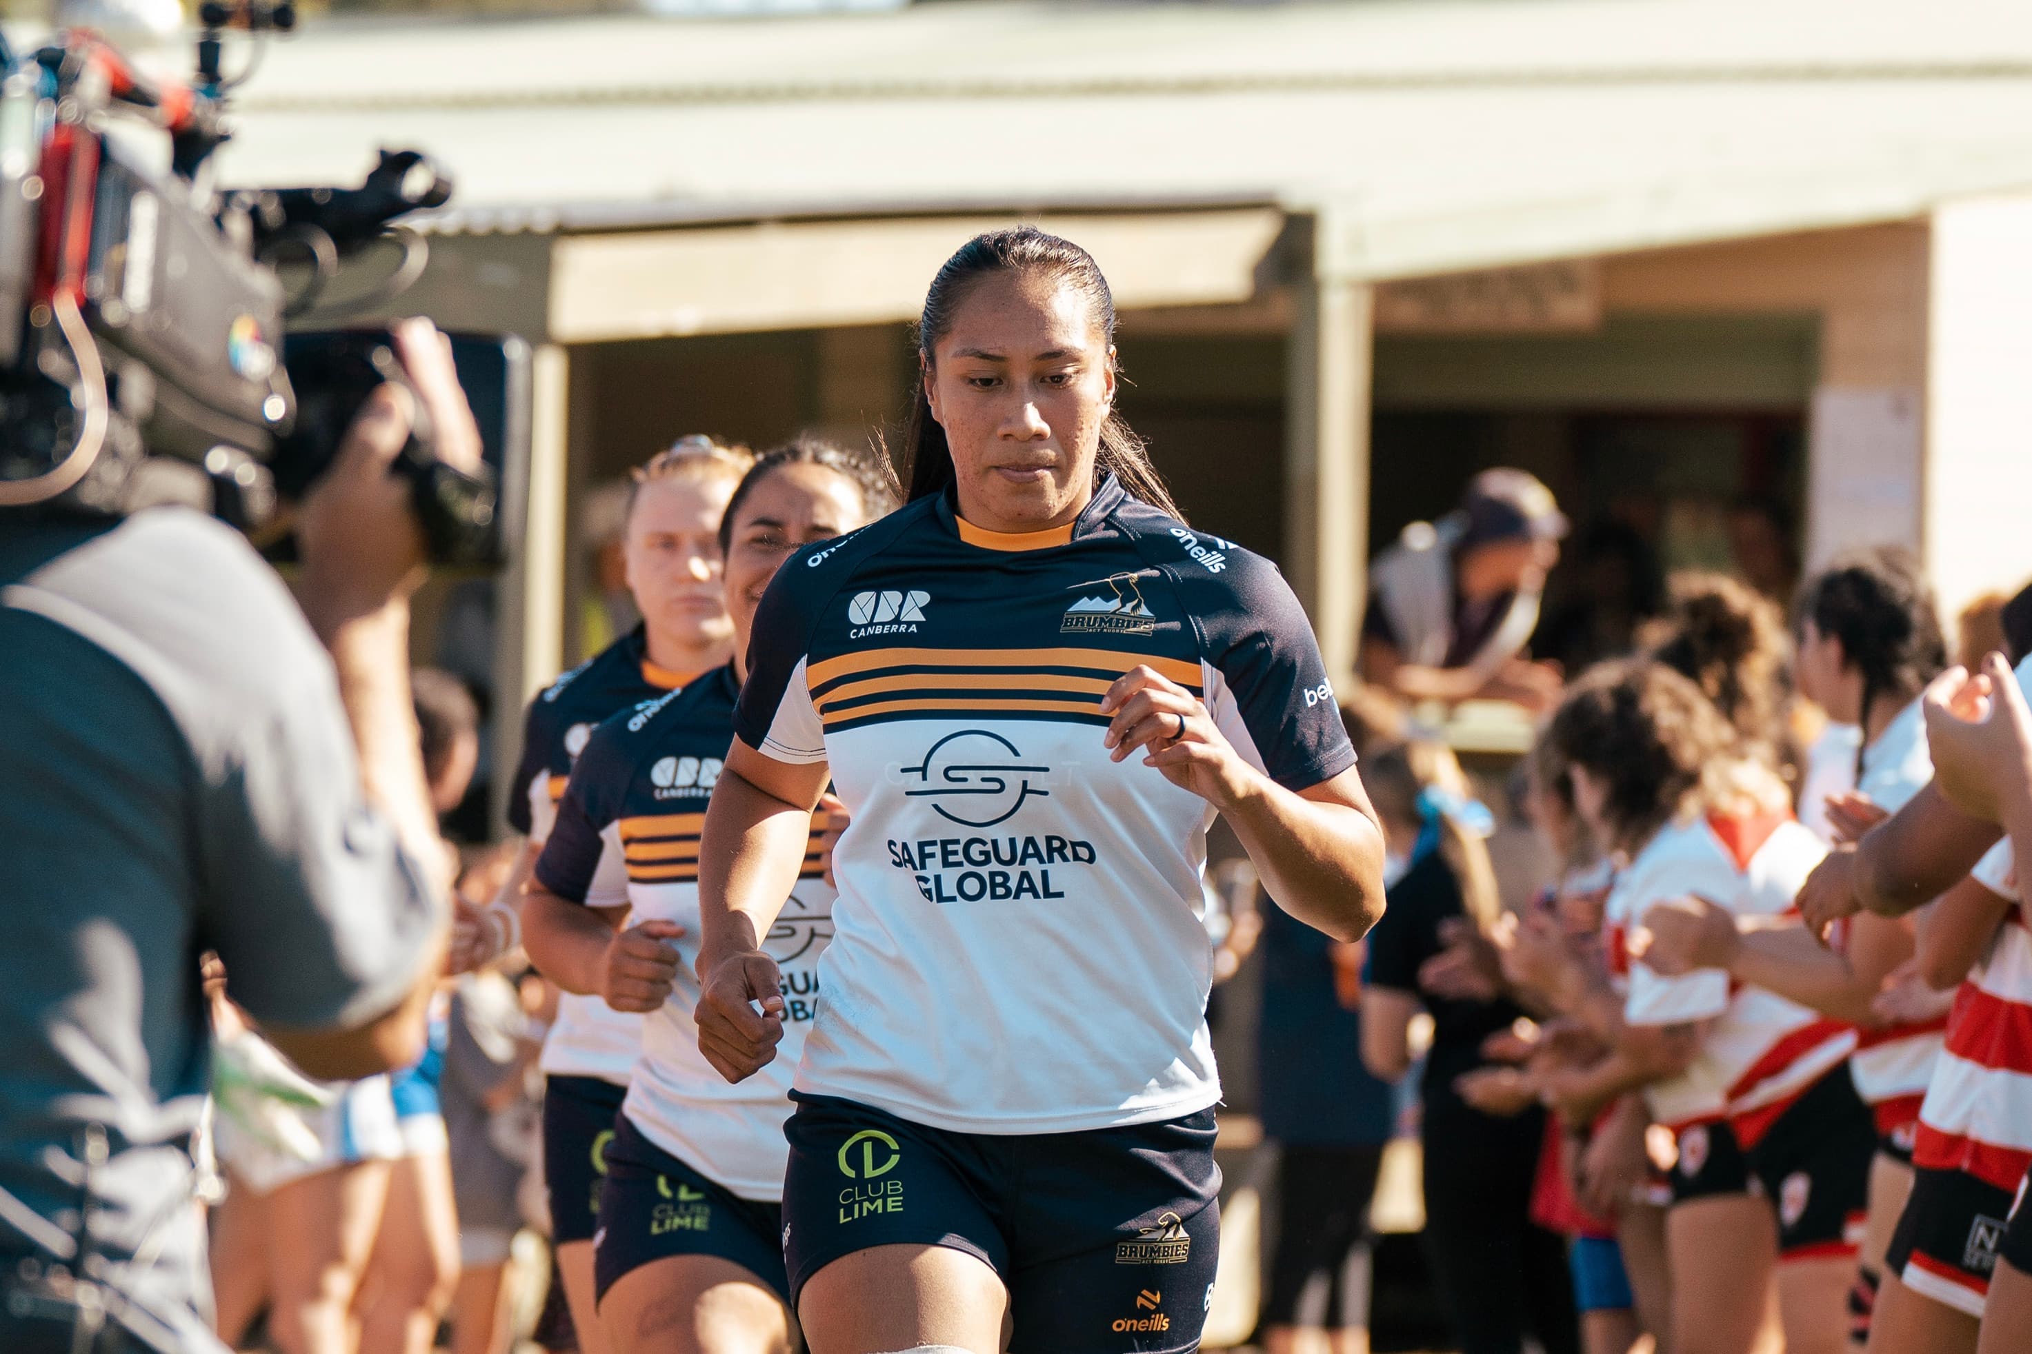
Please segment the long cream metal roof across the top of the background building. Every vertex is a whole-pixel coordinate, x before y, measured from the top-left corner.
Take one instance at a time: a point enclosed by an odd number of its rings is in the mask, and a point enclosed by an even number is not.
[[[1374,278],[1906,219],[2032,185],[2018,0],[1500,0],[313,22],[226,171],[421,146],[459,229],[1335,205]]]

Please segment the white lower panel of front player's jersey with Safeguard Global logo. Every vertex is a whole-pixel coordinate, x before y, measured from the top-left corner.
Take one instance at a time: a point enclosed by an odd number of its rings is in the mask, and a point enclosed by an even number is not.
[[[858,812],[833,851],[837,944],[799,1090],[957,1133],[1150,1123],[1221,1098],[1203,1015],[1207,802],[1140,757],[1109,761],[1101,735],[1036,721],[827,735]],[[1077,1060],[1069,1011],[1091,1050]]]

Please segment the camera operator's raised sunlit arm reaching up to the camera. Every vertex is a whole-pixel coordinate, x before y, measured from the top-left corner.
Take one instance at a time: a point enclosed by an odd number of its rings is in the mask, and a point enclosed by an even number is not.
[[[478,461],[480,438],[437,331],[410,323],[396,337],[408,378],[437,430],[437,453],[461,465]],[[341,782],[327,792],[352,800],[337,806],[337,851],[317,840],[323,824],[313,812],[311,822],[299,824],[309,840],[293,861],[313,909],[335,932],[331,958],[337,960],[337,974],[315,954],[276,946],[258,948],[246,962],[228,954],[236,995],[270,976],[280,989],[299,964],[309,966],[313,989],[319,978],[337,976],[339,987],[352,980],[354,991],[337,1007],[323,1009],[309,997],[274,995],[262,1001],[258,993],[248,993],[252,999],[246,1005],[276,1047],[305,1072],[325,1078],[366,1076],[415,1062],[423,1052],[425,1003],[443,952],[447,857],[425,788],[408,690],[408,595],[423,579],[423,538],[410,516],[408,485],[390,475],[412,416],[406,392],[380,388],[297,520],[305,560],[301,603],[331,654],[356,757],[341,771],[313,755],[272,777],[350,773],[352,780],[352,786]],[[291,733],[319,741],[317,729]],[[293,739],[282,739],[276,751],[293,751]],[[301,784],[276,784],[272,790],[299,814],[331,812],[329,804],[315,804],[315,792]],[[380,810],[378,818],[364,816],[364,804]],[[221,944],[221,952],[226,948]]]

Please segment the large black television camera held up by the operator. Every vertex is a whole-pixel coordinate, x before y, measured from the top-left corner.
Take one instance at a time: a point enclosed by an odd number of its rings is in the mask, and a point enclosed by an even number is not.
[[[386,307],[427,258],[398,219],[443,205],[451,183],[417,150],[384,150],[358,187],[213,189],[228,95],[248,73],[224,73],[224,39],[250,35],[258,59],[295,8],[205,0],[199,22],[189,83],[144,75],[87,28],[20,63],[0,41],[0,510],[187,501],[287,554],[282,503],[402,371],[386,329],[284,331],[307,313]],[[165,140],[167,166],[152,168]],[[325,300],[331,278],[390,246],[400,262],[380,288]],[[453,335],[453,357],[486,465],[445,465],[425,424],[396,465],[433,562],[498,564],[528,436],[528,349]]]

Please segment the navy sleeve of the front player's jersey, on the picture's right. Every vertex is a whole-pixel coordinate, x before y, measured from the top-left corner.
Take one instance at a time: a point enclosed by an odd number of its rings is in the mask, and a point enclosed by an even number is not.
[[[1264,773],[1286,790],[1333,780],[1355,765],[1355,747],[1305,607],[1270,560],[1235,550],[1223,574],[1209,581],[1225,589],[1223,605],[1195,613]]]

